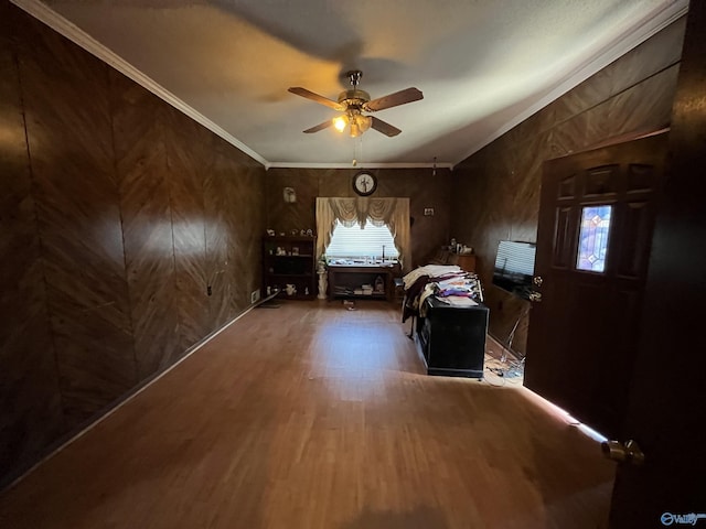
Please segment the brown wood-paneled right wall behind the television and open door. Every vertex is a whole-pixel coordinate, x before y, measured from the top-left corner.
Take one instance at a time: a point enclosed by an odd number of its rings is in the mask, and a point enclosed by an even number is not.
[[[457,165],[456,237],[477,250],[491,334],[506,342],[520,323],[514,350],[525,353],[530,306],[492,285],[498,242],[536,241],[545,160],[670,125],[683,35],[680,20]]]

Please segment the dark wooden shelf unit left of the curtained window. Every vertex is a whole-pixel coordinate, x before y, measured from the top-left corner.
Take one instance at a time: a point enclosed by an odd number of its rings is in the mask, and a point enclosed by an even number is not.
[[[278,251],[279,250],[279,251]],[[317,238],[315,237],[263,237],[264,293],[279,289],[279,298],[313,300],[317,296]],[[287,285],[297,292],[287,294]]]

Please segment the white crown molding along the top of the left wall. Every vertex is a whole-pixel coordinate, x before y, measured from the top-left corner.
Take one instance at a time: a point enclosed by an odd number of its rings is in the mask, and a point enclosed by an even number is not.
[[[225,141],[236,147],[248,156],[253,158],[257,162],[265,165],[265,169],[269,166],[269,162],[265,160],[260,154],[255,152],[253,149],[247,147],[240,140],[235,138],[228,131],[223,129],[221,126],[214,123],[208,118],[203,116],[201,112],[196,111],[191,106],[186,105],[179,97],[173,95],[171,91],[165,89],[159,83],[154,82],[142,72],[137,69],[130,63],[125,61],[122,57],[100,44],[94,37],[92,37],[88,33],[83,31],[77,25],[64,19],[56,11],[52,10],[45,3],[42,3],[40,0],[10,0],[13,4],[15,4],[21,10],[28,12],[39,21],[45,23],[51,29],[56,31],[57,33],[64,35],[66,39],[83,47],[85,51],[95,55],[100,61],[107,63],[113,66],[115,69],[126,75],[138,85],[142,86],[147,90],[154,94],[157,97],[168,102],[176,110],[185,114],[194,121],[203,125],[206,129],[208,129],[214,134],[223,138]]]

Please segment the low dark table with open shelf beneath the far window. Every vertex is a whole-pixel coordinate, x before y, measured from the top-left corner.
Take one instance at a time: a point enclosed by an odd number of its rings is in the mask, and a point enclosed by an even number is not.
[[[365,298],[393,301],[395,299],[394,274],[398,268],[395,264],[329,264],[327,268],[329,269],[329,300]],[[382,293],[375,291],[372,295],[353,293],[354,289],[360,289],[363,284],[372,284],[374,288],[378,277],[383,278],[384,291]]]

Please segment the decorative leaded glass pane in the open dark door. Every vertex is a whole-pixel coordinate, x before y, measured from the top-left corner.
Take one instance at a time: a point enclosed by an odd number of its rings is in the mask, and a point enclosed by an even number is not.
[[[586,206],[581,212],[576,268],[589,272],[606,270],[610,214],[613,206]]]

